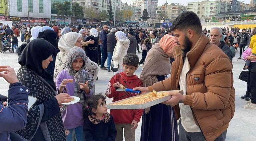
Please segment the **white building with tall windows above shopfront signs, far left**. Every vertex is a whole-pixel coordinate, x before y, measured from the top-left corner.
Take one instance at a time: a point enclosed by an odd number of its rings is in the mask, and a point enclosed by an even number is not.
[[[51,19],[51,0],[9,0],[10,20],[21,23],[46,23]]]

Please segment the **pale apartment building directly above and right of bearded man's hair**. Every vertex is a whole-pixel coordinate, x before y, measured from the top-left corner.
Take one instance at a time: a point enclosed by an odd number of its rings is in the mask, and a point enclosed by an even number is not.
[[[189,2],[188,11],[196,13],[199,18],[216,17],[220,12],[230,11],[230,2],[222,2],[219,0]]]

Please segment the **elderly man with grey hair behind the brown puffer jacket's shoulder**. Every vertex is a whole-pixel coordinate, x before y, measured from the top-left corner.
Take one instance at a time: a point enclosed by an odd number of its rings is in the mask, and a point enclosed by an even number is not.
[[[218,46],[225,54],[227,54],[228,58],[232,62],[232,52],[225,42],[220,41],[222,37],[222,30],[219,27],[212,27],[210,31],[210,42],[216,46]]]

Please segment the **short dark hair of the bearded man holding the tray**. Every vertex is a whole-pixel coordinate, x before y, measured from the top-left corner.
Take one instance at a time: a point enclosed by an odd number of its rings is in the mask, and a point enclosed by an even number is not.
[[[191,11],[184,12],[178,16],[173,24],[172,30],[187,31],[188,29],[194,30],[196,33],[202,33],[202,25],[198,16]]]

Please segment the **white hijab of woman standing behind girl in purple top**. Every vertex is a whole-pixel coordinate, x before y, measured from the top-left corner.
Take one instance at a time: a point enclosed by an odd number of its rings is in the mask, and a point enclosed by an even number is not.
[[[61,36],[58,44],[58,48],[61,52],[68,52],[75,46],[76,41],[82,37],[80,33],[68,32]]]

